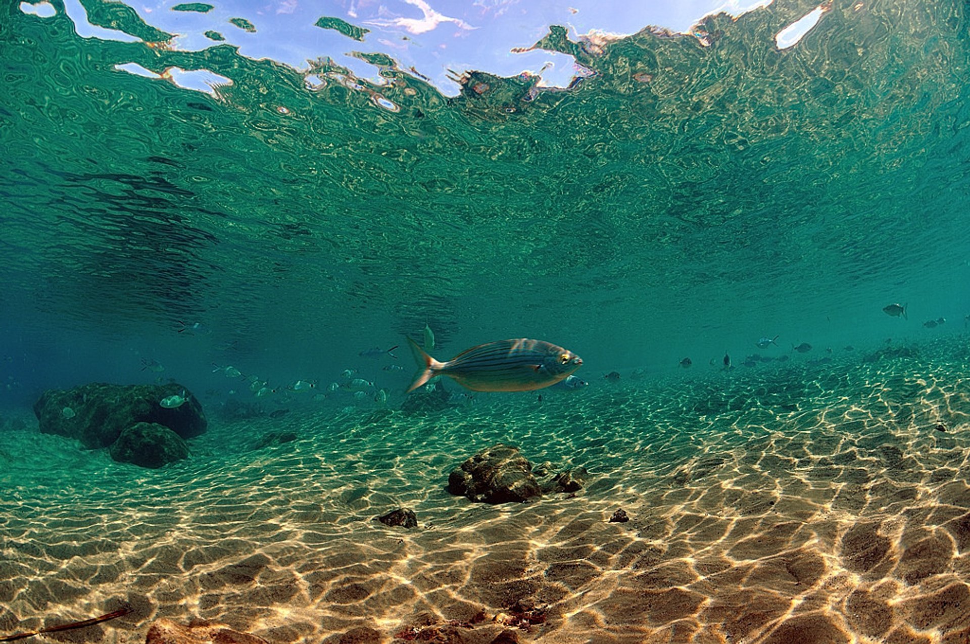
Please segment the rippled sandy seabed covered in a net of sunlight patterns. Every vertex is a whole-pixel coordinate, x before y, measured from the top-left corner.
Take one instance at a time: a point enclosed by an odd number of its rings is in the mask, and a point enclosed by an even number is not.
[[[921,356],[213,423],[157,471],[8,431],[0,634],[123,599],[132,614],[57,639],[142,641],[168,617],[271,642],[963,643],[970,359]],[[283,430],[301,437],[252,449]],[[587,488],[444,491],[497,441],[587,467]],[[418,529],[373,521],[399,505]],[[629,523],[608,523],[618,507]]]

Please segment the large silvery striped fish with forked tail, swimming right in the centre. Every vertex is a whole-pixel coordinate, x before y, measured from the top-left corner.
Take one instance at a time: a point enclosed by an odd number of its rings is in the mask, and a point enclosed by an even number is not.
[[[448,362],[438,362],[411,338],[407,342],[418,364],[408,392],[436,375],[447,375],[471,391],[533,391],[556,384],[583,364],[571,351],[540,339],[479,344]]]

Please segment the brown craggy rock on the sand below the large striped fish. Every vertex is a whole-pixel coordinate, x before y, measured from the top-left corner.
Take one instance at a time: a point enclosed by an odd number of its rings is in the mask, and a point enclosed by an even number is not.
[[[518,447],[498,443],[452,470],[448,492],[486,503],[522,502],[542,495],[532,469]]]

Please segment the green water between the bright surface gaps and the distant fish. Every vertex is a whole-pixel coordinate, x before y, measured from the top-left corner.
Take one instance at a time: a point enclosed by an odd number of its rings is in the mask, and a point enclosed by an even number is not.
[[[389,113],[229,47],[83,40],[63,13],[12,6],[5,301],[38,333],[163,337],[200,319],[291,360],[431,321],[454,352],[549,338],[602,371],[764,335],[882,340],[896,301],[958,326],[964,8],[846,4],[773,48],[808,7],[710,18],[710,48],[551,43],[598,76],[531,101],[519,81],[449,100],[388,70]],[[213,99],[122,62],[233,85]]]

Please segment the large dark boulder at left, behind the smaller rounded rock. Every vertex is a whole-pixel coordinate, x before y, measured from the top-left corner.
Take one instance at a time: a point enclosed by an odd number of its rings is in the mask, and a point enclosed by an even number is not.
[[[185,392],[175,408],[160,402]],[[81,440],[84,447],[108,447],[121,432],[136,423],[157,423],[182,438],[206,431],[202,404],[178,383],[164,385],[112,385],[92,383],[74,389],[49,389],[34,403],[41,432]]]

